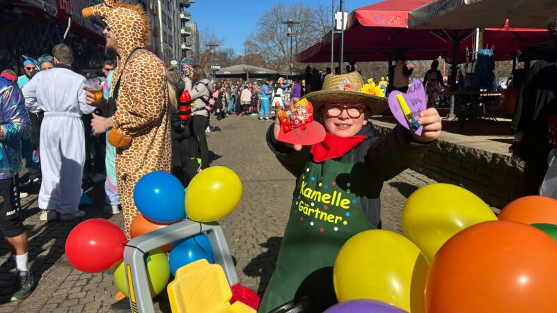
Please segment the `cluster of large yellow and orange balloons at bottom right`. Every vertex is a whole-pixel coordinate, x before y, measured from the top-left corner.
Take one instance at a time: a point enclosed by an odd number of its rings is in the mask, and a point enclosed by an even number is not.
[[[519,198],[497,218],[464,188],[432,184],[408,198],[402,231],[345,243],[327,313],[557,312],[557,200]]]

